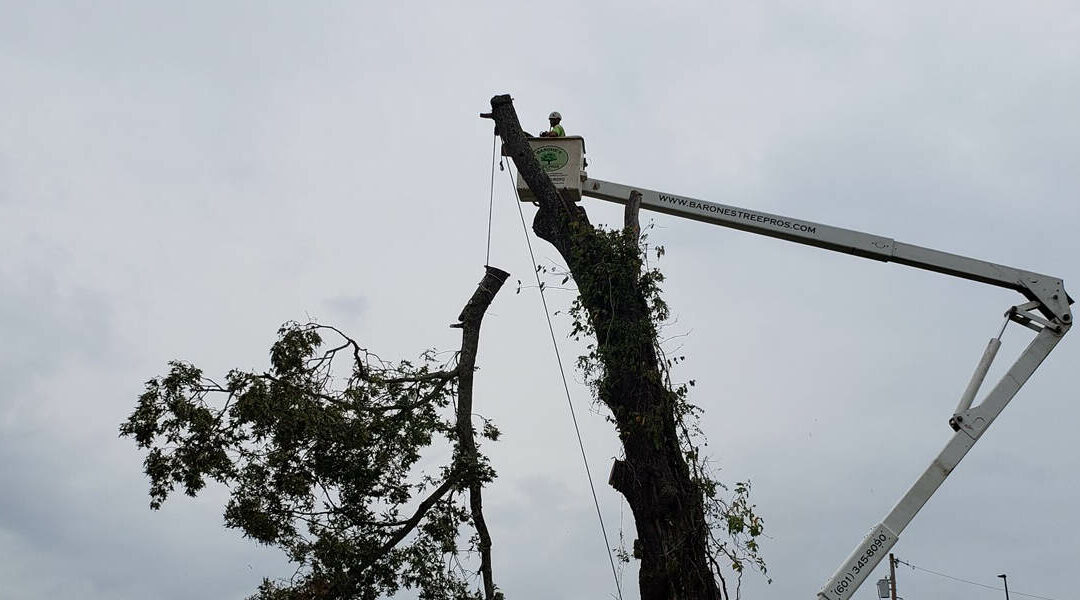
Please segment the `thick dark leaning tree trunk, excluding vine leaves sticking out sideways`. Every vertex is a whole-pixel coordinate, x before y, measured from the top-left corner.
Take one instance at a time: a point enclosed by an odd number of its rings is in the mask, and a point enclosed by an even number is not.
[[[529,148],[511,97],[491,98],[491,109],[508,154],[540,205],[532,229],[566,260],[596,331],[605,368],[599,399],[611,410],[625,454],[610,483],[634,514],[642,600],[715,600],[702,492],[679,446],[677,398],[663,383],[652,314],[638,285],[640,263],[616,256],[584,209],[556,191]]]

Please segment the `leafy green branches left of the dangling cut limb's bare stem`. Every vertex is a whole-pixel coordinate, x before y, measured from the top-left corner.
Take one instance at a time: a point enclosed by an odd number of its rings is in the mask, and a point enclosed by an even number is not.
[[[233,370],[219,383],[171,363],[120,433],[148,450],[152,508],[177,488],[195,495],[218,481],[230,493],[227,527],[298,564],[253,598],[374,600],[403,587],[481,598],[462,563],[476,545],[463,530],[464,491],[495,474],[460,451],[456,359],[428,352],[391,364],[333,327],[289,323],[266,372]],[[482,435],[498,431],[485,422]],[[448,462],[424,453],[433,445]]]

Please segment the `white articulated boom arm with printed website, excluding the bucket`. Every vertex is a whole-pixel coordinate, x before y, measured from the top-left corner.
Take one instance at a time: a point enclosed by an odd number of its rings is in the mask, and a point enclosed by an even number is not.
[[[915,485],[886,515],[885,519],[870,530],[869,534],[818,592],[820,600],[850,599],[874,568],[889,554],[904,528],[912,522],[919,509],[937,491],[945,478],[953,473],[953,469],[982,437],[990,423],[1004,410],[1021,386],[1069,330],[1072,325],[1072,314],[1069,309],[1072,299],[1065,292],[1062,281],[1055,277],[913,246],[889,237],[849,229],[643,188],[630,188],[599,179],[586,178],[582,182],[581,193],[599,200],[625,204],[630,199],[631,191],[640,192],[642,208],[649,210],[1005,287],[1021,292],[1028,300],[1009,309],[1005,313],[1005,325],[1008,326],[1010,322],[1023,325],[1036,331],[1035,339],[1021,353],[997,385],[983,398],[983,401],[972,407],[975,395],[978,393],[983,379],[986,377],[990,363],[1001,344],[1001,333],[990,340],[968,388],[964,390],[956,411],[948,421],[949,426],[955,432],[948,444],[945,445],[926,473],[915,481]]]

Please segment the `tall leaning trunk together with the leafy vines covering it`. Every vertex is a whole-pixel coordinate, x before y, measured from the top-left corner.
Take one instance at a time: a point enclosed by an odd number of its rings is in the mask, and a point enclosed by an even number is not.
[[[627,215],[623,231],[592,226],[536,161],[510,96],[491,98],[491,109],[485,117],[495,120],[539,204],[534,230],[558,250],[578,287],[572,336],[593,340],[578,365],[622,441],[610,483],[634,514],[642,599],[726,598],[727,569],[737,576],[738,597],[747,565],[765,572],[764,523],[750,502],[750,483],[729,490],[704,458],[700,409],[687,399],[692,381],[672,381],[680,358],[666,357],[658,341],[669,316],[663,275],[646,263],[636,214]],[[732,493],[726,499],[725,492]]]

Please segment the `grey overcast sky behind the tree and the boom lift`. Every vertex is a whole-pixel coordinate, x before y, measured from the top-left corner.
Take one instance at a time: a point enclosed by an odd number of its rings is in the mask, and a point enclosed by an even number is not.
[[[485,261],[492,138],[477,113],[495,94],[532,131],[561,111],[593,177],[1048,273],[1076,295],[1080,6],[812,4],[0,0],[0,596],[240,599],[292,572],[221,526],[220,489],[151,513],[117,427],[167,360],[261,369],[288,319],[338,325],[383,357],[457,347],[446,325]],[[496,176],[490,262],[512,275],[476,381],[477,411],[504,433],[485,497],[496,579],[512,599],[610,598]],[[813,598],[949,438],[1023,298],[644,218],[667,250],[667,347],[688,358],[675,374],[697,380],[708,448],[726,480],[753,481],[766,519],[773,583],[747,575],[743,595]],[[552,310],[570,299],[549,292]],[[572,358],[565,315],[556,327]],[[1030,337],[1010,327],[998,363]],[[1066,338],[897,557],[1075,596],[1078,360]],[[613,432],[570,374],[608,531],[632,538],[605,483]],[[897,575],[908,600],[1002,596]]]

